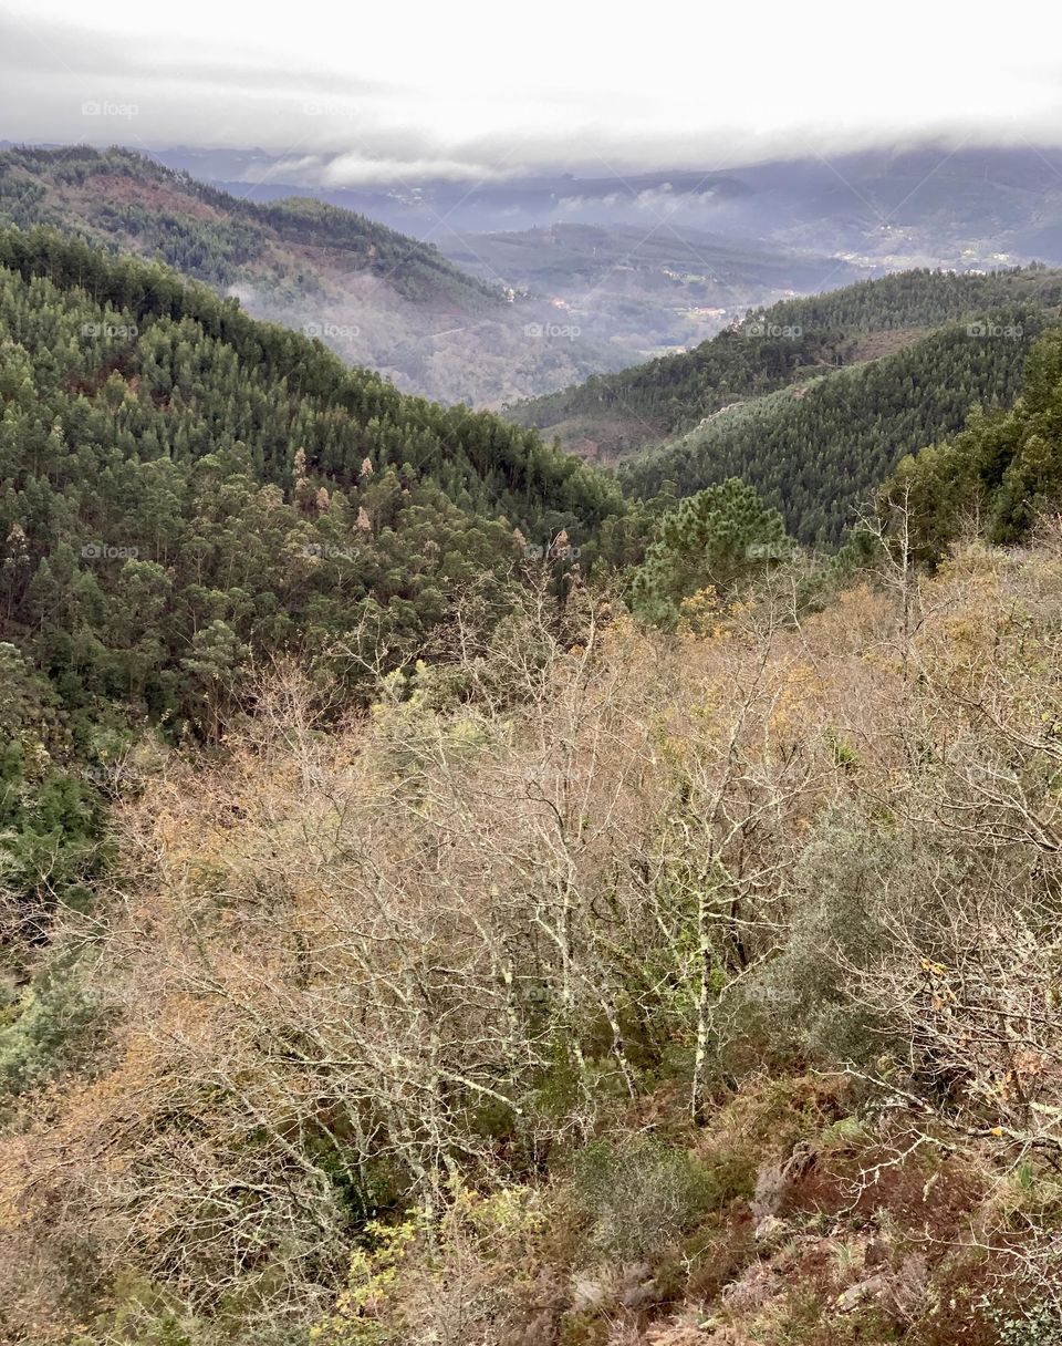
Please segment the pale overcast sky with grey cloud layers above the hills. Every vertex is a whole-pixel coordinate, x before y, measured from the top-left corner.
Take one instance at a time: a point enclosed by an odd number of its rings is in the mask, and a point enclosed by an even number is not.
[[[0,136],[260,145],[335,186],[1057,144],[1061,36],[1028,0],[15,0]]]

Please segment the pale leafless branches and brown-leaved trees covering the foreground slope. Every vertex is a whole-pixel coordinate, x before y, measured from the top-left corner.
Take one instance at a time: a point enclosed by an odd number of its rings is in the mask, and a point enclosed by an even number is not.
[[[223,758],[120,812],[120,883],[65,933],[102,950],[114,1047],[0,1140],[4,1236],[306,1320],[349,1249],[337,1175],[437,1214],[580,1143],[646,1062],[704,1121],[840,809],[909,856],[884,952],[816,950],[884,1026],[857,1073],[952,1143],[1057,1149],[1062,565],[894,579],[666,643],[532,612],[462,704],[424,670],[327,732],[281,669]]]

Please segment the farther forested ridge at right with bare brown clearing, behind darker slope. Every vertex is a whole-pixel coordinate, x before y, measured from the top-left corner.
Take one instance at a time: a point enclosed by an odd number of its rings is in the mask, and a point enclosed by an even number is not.
[[[942,324],[1016,304],[1057,308],[1061,280],[1058,271],[1030,267],[989,275],[923,269],[860,281],[750,312],[692,351],[591,378],[506,415],[583,452],[629,455],[735,402],[894,353]]]

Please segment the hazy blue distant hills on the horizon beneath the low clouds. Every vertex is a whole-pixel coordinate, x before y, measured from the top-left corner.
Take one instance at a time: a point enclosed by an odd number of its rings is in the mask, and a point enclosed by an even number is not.
[[[795,156],[725,172],[665,168],[580,178],[559,171],[349,187],[337,186],[328,156],[297,175],[261,151],[174,149],[160,157],[256,199],[291,194],[297,176],[300,192],[440,244],[443,217],[459,234],[555,223],[634,225],[649,233],[666,221],[836,253],[880,271],[1062,262],[1062,151],[1047,145],[923,143]]]

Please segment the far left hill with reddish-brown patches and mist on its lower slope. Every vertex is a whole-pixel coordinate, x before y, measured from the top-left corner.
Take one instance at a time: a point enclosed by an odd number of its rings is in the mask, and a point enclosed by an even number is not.
[[[552,308],[509,303],[497,281],[365,215],[308,198],[249,201],[125,149],[0,153],[0,223],[157,257],[446,402],[501,404],[629,359],[552,336]]]

